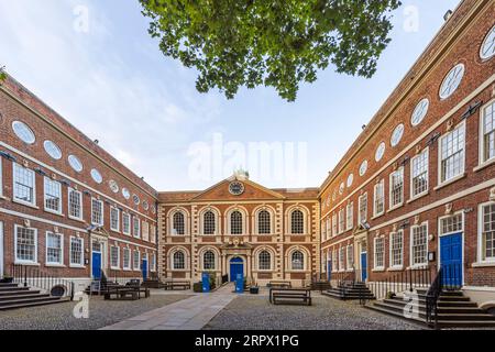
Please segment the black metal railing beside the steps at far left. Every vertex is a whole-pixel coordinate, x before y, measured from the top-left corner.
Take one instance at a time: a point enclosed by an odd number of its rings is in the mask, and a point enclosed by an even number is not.
[[[12,264],[11,274],[15,284],[40,288],[52,296],[68,297],[74,300],[74,282],[52,276],[38,267],[22,264]]]

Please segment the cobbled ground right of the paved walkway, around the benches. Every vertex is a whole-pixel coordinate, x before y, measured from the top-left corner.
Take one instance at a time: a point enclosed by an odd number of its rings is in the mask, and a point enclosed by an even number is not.
[[[365,309],[355,301],[314,295],[312,306],[271,305],[266,296],[243,295],[205,330],[419,330],[420,326]]]

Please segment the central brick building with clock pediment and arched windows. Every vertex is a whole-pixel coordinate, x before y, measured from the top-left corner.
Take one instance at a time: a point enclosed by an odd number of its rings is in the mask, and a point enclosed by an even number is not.
[[[206,190],[161,193],[161,277],[311,279],[320,267],[318,191],[268,189],[235,173]]]

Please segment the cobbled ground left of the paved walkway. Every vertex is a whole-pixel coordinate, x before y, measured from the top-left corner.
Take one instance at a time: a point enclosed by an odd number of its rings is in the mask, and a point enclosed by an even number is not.
[[[138,300],[103,300],[92,296],[89,318],[76,319],[77,302],[0,311],[0,330],[96,330],[143,312],[190,297],[190,295],[152,295]]]

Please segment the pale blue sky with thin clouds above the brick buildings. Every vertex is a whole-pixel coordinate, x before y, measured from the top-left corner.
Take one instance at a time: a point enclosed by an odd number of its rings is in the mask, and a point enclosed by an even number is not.
[[[0,0],[0,66],[158,190],[206,188],[239,166],[267,187],[319,186],[459,2],[403,1],[372,79],[329,67],[295,102],[264,87],[197,92],[138,0]],[[250,148],[263,145],[279,153]]]

